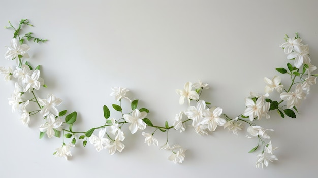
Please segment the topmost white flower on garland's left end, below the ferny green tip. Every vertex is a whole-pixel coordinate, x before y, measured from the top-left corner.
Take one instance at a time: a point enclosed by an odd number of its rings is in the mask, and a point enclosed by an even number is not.
[[[24,58],[28,58],[29,55],[27,54],[27,51],[30,49],[30,47],[26,44],[20,45],[20,42],[18,39],[12,39],[11,40],[11,47],[7,47],[8,51],[5,54],[5,58],[8,60],[16,59],[17,65],[18,65],[18,56],[21,55]]]

